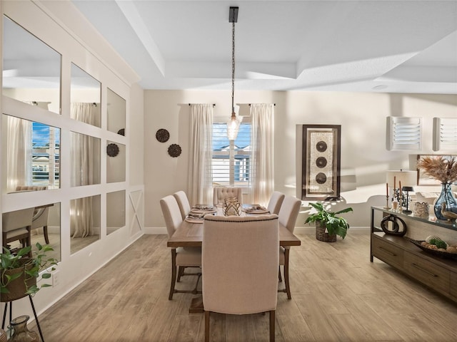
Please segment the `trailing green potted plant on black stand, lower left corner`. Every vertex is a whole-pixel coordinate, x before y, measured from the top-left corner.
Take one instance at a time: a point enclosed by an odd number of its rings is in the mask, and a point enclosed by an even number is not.
[[[16,253],[11,253],[4,247],[4,252],[0,253],[1,271],[0,271],[0,301],[9,302],[21,299],[24,296],[34,296],[39,289],[49,284],[36,284],[41,269],[54,271],[56,259],[46,257],[46,252],[51,252],[49,245],[42,246],[36,243],[36,250],[31,253],[31,246],[23,247]],[[51,278],[51,274],[45,271],[41,274],[42,279]]]

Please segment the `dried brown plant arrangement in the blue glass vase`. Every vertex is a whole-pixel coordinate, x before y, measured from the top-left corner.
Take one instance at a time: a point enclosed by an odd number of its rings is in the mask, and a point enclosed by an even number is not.
[[[425,156],[418,160],[417,167],[441,183],[451,183],[457,180],[457,160],[455,157],[446,159],[439,156]]]

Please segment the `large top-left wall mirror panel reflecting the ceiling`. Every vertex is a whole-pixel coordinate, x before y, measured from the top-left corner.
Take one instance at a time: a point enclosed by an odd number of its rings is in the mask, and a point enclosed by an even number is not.
[[[3,94],[60,113],[61,55],[3,17]]]

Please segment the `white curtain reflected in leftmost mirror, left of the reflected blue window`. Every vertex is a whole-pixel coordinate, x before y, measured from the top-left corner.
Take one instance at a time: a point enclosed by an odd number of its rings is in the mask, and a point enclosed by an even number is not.
[[[6,191],[16,191],[18,185],[31,185],[31,122],[6,116]]]

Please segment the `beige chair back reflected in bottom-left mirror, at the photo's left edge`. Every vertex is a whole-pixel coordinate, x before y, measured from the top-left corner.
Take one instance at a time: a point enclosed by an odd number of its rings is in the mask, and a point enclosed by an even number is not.
[[[3,247],[8,248],[10,242],[19,240],[22,247],[30,246],[31,219],[34,208],[4,212],[1,215]]]

